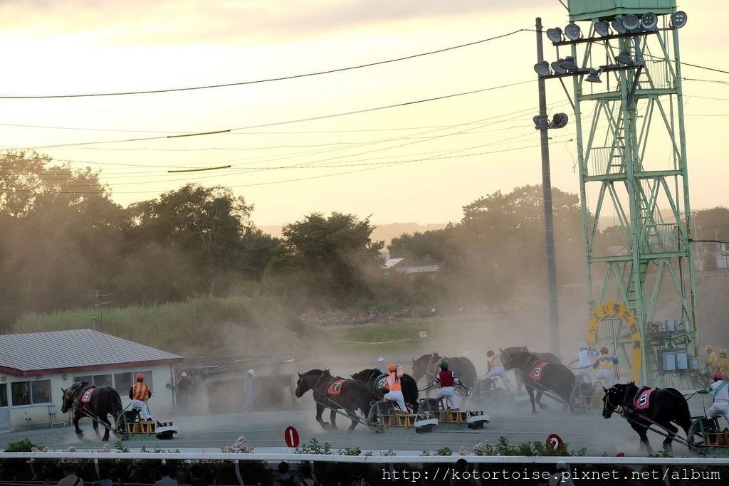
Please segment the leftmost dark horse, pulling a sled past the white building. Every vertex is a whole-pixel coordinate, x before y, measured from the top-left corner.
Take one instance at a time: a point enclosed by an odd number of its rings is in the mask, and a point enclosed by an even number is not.
[[[119,416],[124,410],[122,407],[122,399],[114,388],[110,386],[101,386],[94,388],[93,385],[83,382],[73,383],[69,388],[63,390],[63,405],[61,412],[66,413],[73,407],[74,409],[74,427],[76,435],[79,439],[83,439],[84,433],[79,428],[79,420],[82,417],[89,417],[93,420],[93,429],[98,433],[98,423],[104,425],[106,431],[101,439],[104,442],[109,440],[109,429],[114,428],[109,422],[107,415],[114,417],[114,422],[119,423]],[[87,396],[87,399],[85,398]],[[82,401],[84,399],[84,401]]]

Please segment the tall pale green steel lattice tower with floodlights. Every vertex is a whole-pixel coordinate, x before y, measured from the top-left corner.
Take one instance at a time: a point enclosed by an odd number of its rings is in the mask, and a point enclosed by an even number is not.
[[[677,30],[687,17],[675,0],[569,0],[569,20],[564,34],[547,30],[557,60],[540,76],[573,82],[588,341],[642,384],[688,380],[698,344]],[[614,224],[608,241],[600,230]],[[659,299],[679,309],[672,319],[655,320]]]

